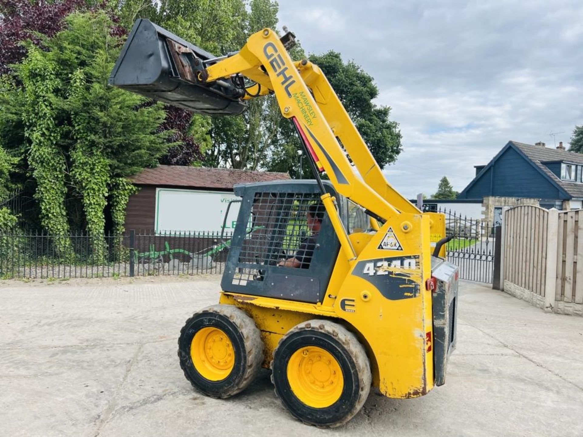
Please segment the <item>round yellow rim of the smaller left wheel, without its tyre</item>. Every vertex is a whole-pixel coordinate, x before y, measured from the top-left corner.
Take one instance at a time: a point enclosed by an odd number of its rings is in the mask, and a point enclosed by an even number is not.
[[[202,328],[192,337],[190,356],[196,371],[211,381],[227,378],[235,365],[233,344],[216,327]]]

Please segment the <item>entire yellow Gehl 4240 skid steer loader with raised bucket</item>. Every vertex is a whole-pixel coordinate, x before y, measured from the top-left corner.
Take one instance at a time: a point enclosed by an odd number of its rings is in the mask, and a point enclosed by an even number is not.
[[[178,356],[192,385],[217,398],[271,368],[291,414],[336,427],[371,386],[409,398],[444,383],[458,270],[444,260],[445,217],[388,184],[322,71],[291,60],[295,36],[284,31],[261,30],[213,57],[139,19],[110,84],[211,115],[275,94],[314,179],[234,187],[241,203],[220,303],[187,320]]]

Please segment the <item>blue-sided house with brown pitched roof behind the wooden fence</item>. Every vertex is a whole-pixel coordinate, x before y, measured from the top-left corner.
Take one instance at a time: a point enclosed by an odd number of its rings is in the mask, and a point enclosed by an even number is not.
[[[496,209],[494,221],[503,206],[580,209],[582,173],[583,154],[565,150],[562,142],[551,148],[509,141],[487,165],[476,165],[476,177],[458,199],[483,199],[486,209]]]

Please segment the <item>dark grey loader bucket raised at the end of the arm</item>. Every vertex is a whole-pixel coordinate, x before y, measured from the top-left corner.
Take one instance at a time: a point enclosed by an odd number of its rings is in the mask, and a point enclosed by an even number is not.
[[[110,85],[199,114],[241,114],[243,93],[230,79],[198,80],[209,52],[146,19],[138,19],[115,62]]]

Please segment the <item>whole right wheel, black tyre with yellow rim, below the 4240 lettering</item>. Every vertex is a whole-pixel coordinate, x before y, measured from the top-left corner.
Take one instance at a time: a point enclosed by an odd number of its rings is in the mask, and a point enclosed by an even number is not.
[[[293,327],[273,352],[275,394],[294,417],[339,427],[359,412],[372,375],[364,347],[345,327],[309,320]]]

